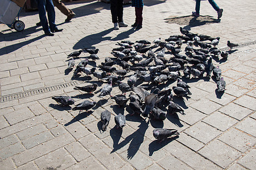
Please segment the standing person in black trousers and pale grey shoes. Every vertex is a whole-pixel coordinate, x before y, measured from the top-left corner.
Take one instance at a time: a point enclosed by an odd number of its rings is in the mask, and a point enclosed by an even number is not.
[[[123,0],[110,0],[110,11],[114,29],[128,26],[123,22]]]

